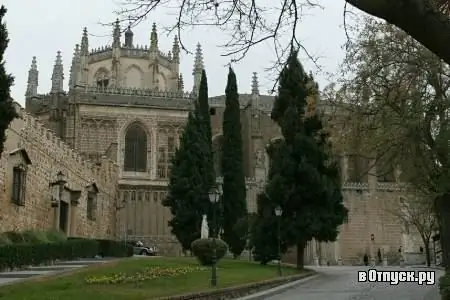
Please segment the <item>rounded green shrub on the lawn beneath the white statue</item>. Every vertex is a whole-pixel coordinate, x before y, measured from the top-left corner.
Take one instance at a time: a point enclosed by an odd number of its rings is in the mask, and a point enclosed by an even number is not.
[[[192,242],[191,249],[194,256],[204,266],[213,264],[214,248],[216,249],[216,262],[222,259],[228,251],[228,245],[220,239],[197,239]]]

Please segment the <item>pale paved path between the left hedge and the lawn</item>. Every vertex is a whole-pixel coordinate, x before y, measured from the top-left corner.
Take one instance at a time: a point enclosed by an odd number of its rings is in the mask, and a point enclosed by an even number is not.
[[[21,271],[0,272],[0,286],[21,281],[27,278],[52,273],[67,272],[77,268],[83,268],[94,264],[108,262],[109,259],[84,259],[76,261],[61,261],[51,266],[29,267]]]

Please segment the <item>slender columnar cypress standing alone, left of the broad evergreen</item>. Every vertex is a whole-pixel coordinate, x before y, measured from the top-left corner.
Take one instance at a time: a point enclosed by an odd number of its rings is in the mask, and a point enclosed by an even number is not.
[[[245,248],[246,234],[237,230],[236,224],[247,216],[245,174],[243,167],[242,133],[239,94],[236,74],[230,68],[225,89],[226,102],[223,114],[223,239],[231,253],[239,256]]]

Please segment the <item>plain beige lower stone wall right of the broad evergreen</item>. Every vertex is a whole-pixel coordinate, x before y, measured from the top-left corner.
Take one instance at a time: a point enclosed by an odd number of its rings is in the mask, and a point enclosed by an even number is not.
[[[374,189],[367,185],[345,183],[343,186],[345,206],[349,210],[346,222],[340,227],[336,242],[310,242],[305,249],[306,264],[345,265],[363,263],[367,254],[378,260],[378,249],[389,261],[398,260],[400,246],[404,247],[404,225],[391,212],[398,207],[397,201],[405,192],[395,183],[378,183]],[[411,233],[414,235],[414,233]],[[373,235],[373,236],[372,236]],[[372,240],[373,237],[373,240]],[[417,240],[417,239],[414,239]],[[419,249],[421,241],[414,247]],[[317,259],[320,258],[320,262]],[[284,261],[296,263],[295,248],[284,256]]]

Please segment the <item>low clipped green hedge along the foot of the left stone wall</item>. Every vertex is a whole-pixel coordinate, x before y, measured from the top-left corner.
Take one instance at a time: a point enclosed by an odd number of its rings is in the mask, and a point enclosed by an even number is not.
[[[88,239],[3,245],[0,246],[0,271],[49,264],[55,260],[92,258],[97,253],[98,242]]]

